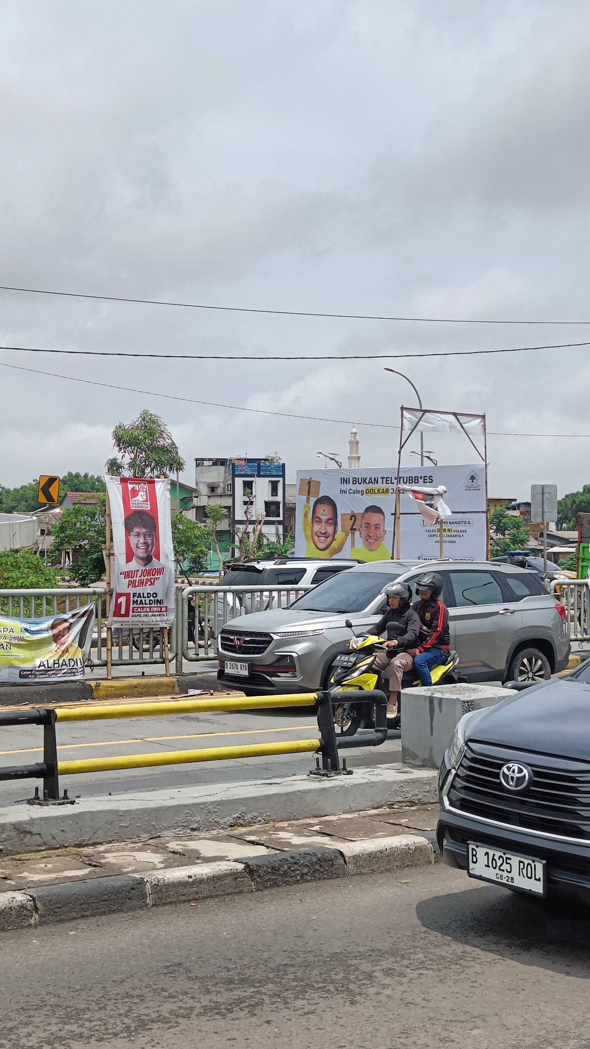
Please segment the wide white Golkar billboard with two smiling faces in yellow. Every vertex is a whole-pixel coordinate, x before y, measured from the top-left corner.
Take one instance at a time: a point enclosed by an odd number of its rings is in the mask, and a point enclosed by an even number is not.
[[[360,470],[310,470],[297,475],[296,557],[391,558],[395,489],[446,489],[451,516],[443,519],[443,556],[485,560],[485,476],[481,466],[412,466]],[[437,560],[439,527],[429,523],[410,492],[401,492],[400,557]]]

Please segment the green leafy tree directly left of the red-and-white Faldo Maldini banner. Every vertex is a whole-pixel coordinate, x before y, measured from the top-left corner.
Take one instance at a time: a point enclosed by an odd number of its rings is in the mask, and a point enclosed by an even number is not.
[[[101,495],[95,507],[79,504],[64,510],[51,529],[53,548],[71,552],[69,572],[81,586],[90,586],[105,573],[105,513],[106,498]]]

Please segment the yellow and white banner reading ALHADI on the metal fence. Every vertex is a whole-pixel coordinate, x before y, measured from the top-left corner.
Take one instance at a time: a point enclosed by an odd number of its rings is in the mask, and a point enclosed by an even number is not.
[[[93,604],[43,619],[0,616],[0,681],[83,678],[93,625]]]

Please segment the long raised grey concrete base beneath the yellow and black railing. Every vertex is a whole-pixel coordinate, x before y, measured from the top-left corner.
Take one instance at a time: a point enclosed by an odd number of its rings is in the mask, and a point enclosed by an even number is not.
[[[84,789],[84,788],[83,788]],[[256,827],[288,819],[335,816],[378,806],[436,801],[436,773],[401,765],[355,769],[352,776],[285,776],[82,797],[58,808],[0,809],[0,853],[88,847],[114,841]],[[241,859],[241,857],[239,857]]]

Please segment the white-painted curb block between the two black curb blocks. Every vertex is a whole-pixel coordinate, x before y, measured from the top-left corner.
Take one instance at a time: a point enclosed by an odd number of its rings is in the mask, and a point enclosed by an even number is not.
[[[228,860],[220,863],[197,863],[144,875],[150,906],[162,903],[185,903],[215,896],[254,893],[254,883],[242,863]]]

